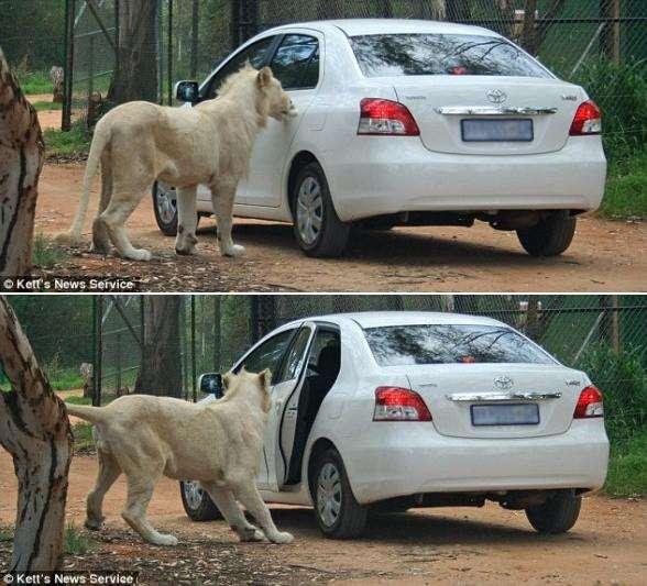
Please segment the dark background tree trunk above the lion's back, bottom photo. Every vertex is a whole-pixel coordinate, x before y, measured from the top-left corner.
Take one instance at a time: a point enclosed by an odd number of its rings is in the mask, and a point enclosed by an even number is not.
[[[182,397],[178,295],[150,296],[144,302],[144,346],[135,392]]]

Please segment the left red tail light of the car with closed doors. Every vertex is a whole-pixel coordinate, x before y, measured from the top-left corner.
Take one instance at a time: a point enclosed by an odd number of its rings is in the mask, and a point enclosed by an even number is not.
[[[393,100],[364,98],[360,102],[358,134],[419,136],[420,130],[406,106]]]

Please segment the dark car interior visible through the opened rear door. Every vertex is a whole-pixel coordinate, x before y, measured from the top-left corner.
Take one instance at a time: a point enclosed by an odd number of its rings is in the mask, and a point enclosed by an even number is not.
[[[301,462],[308,435],[315,423],[321,402],[337,380],[341,351],[339,332],[320,328],[310,346],[308,363],[298,401],[298,417],[294,445],[287,467],[285,484],[297,484],[301,477]]]

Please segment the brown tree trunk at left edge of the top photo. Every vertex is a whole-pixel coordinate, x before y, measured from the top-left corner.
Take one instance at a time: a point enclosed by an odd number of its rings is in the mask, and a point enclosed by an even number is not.
[[[0,275],[29,275],[43,135],[0,48]]]

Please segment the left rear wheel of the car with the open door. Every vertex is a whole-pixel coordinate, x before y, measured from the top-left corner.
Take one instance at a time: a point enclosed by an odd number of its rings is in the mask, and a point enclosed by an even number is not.
[[[366,507],[355,500],[337,450],[327,450],[315,463],[312,497],[319,529],[328,538],[353,539],[366,524]]]

